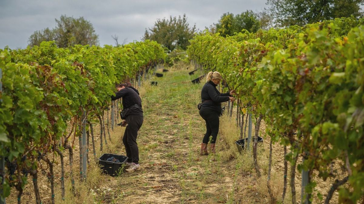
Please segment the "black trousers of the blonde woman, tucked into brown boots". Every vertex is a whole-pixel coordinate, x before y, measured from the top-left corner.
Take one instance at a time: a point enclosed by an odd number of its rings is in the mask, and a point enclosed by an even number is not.
[[[206,121],[206,134],[203,137],[203,143],[209,143],[210,136],[212,136],[211,143],[216,142],[217,133],[219,132],[219,113],[214,110],[201,107],[201,117]]]

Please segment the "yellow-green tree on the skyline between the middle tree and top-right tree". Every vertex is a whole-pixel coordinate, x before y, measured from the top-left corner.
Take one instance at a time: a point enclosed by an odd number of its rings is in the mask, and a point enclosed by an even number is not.
[[[245,11],[240,14],[234,15],[233,13],[224,13],[217,24],[211,25],[210,30],[213,33],[220,33],[221,36],[232,36],[234,33],[241,32],[246,29],[249,32],[256,32],[262,26],[266,25],[266,20],[261,22],[261,17],[265,17],[264,13],[254,13],[253,11]],[[262,25],[264,24],[264,25]]]

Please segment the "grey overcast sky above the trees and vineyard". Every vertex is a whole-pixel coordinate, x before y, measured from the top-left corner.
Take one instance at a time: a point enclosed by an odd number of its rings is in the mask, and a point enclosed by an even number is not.
[[[25,48],[35,30],[54,28],[61,15],[90,21],[100,45],[141,40],[157,19],[183,15],[200,30],[216,23],[223,13],[261,11],[266,0],[0,0],[0,48]]]

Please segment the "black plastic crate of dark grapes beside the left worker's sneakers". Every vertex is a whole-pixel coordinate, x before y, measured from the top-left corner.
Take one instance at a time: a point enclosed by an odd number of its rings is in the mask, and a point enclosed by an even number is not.
[[[110,157],[119,159],[120,163],[106,161]],[[123,156],[123,155],[103,154],[99,158],[99,165],[104,174],[108,174],[110,176],[117,176],[118,175],[117,172],[118,172],[119,168],[122,167],[123,164],[126,163],[127,159],[128,159],[128,157]]]

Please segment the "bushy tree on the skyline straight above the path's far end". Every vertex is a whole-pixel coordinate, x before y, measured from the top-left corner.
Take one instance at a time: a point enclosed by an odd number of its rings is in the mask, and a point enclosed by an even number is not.
[[[195,31],[196,25],[190,27],[185,14],[178,18],[170,16],[169,19],[157,19],[152,28],[145,30],[143,40],[155,40],[170,51],[175,48],[185,50]]]

